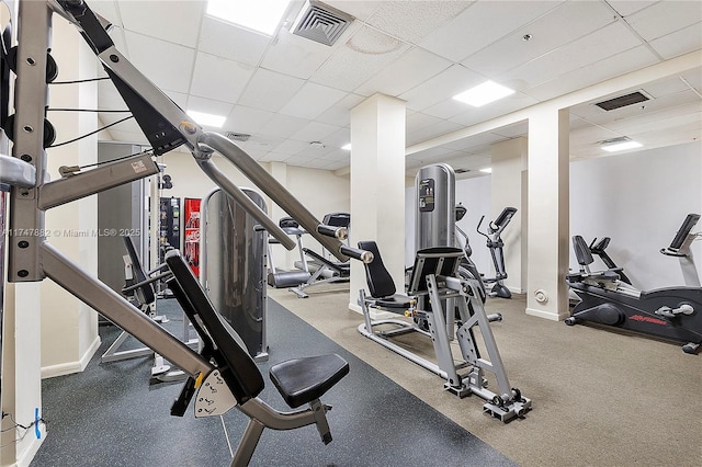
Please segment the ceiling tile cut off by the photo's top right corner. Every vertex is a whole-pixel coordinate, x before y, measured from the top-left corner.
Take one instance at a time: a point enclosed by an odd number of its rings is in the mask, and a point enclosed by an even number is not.
[[[641,10],[625,21],[646,41],[665,36],[702,21],[699,1],[660,1]]]

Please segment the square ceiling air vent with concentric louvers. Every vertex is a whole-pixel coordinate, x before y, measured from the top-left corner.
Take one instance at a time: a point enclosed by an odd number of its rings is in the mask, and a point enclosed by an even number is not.
[[[320,1],[308,0],[295,20],[292,32],[297,36],[331,46],[353,20],[350,14]]]

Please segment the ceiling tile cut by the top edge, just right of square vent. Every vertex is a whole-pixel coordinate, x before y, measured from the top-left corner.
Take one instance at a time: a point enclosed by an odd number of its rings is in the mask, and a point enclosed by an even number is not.
[[[367,23],[411,44],[417,44],[471,4],[469,1],[386,1]]]

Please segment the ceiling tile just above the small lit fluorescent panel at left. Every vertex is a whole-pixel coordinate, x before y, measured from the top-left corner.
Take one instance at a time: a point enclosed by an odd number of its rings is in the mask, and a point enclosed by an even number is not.
[[[201,98],[236,103],[253,75],[253,67],[197,53],[190,92]]]

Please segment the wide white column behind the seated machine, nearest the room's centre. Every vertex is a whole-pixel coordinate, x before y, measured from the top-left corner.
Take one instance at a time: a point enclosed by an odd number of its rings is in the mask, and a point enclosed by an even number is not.
[[[374,94],[351,110],[351,244],[375,240],[397,287],[405,282],[405,102]],[[351,262],[349,307],[367,288]]]

